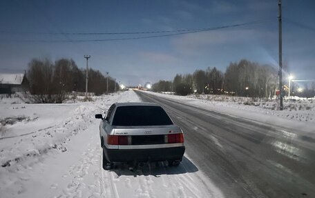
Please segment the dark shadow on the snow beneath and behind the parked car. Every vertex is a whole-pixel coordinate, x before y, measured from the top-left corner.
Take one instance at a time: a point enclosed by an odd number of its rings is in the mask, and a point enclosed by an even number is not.
[[[133,175],[134,177],[152,175],[160,177],[160,175],[180,175],[187,172],[197,172],[198,168],[187,157],[183,156],[179,166],[168,166],[166,162],[151,162],[131,169],[127,164],[115,164],[110,171],[115,172],[118,177],[121,175]]]

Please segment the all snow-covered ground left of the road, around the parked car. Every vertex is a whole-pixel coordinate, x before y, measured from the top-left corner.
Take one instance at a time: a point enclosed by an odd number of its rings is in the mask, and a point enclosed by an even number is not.
[[[186,155],[178,168],[103,170],[94,115],[116,101],[140,99],[128,91],[64,104],[0,100],[0,197],[222,197]]]

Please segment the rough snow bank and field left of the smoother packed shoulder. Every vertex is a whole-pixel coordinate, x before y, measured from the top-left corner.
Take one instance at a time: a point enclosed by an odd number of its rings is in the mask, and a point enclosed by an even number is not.
[[[1,104],[0,165],[11,166],[52,149],[65,152],[69,137],[92,123],[91,112],[110,105],[117,97],[120,95],[107,95],[101,102],[95,99],[75,104]],[[13,121],[8,123],[8,119]]]

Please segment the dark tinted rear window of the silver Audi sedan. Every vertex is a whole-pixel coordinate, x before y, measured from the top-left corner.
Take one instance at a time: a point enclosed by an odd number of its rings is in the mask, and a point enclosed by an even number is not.
[[[160,106],[117,107],[113,126],[160,126],[173,124]]]

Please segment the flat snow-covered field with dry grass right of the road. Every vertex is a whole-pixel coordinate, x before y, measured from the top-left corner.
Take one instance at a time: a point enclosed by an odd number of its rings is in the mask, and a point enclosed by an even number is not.
[[[286,128],[296,128],[305,132],[315,132],[315,101],[288,101],[285,100],[285,109],[280,111],[276,101],[252,101],[246,97],[226,97],[218,95],[189,95],[178,96],[147,92],[151,95],[173,99],[200,108],[242,117],[260,123],[273,124]]]

